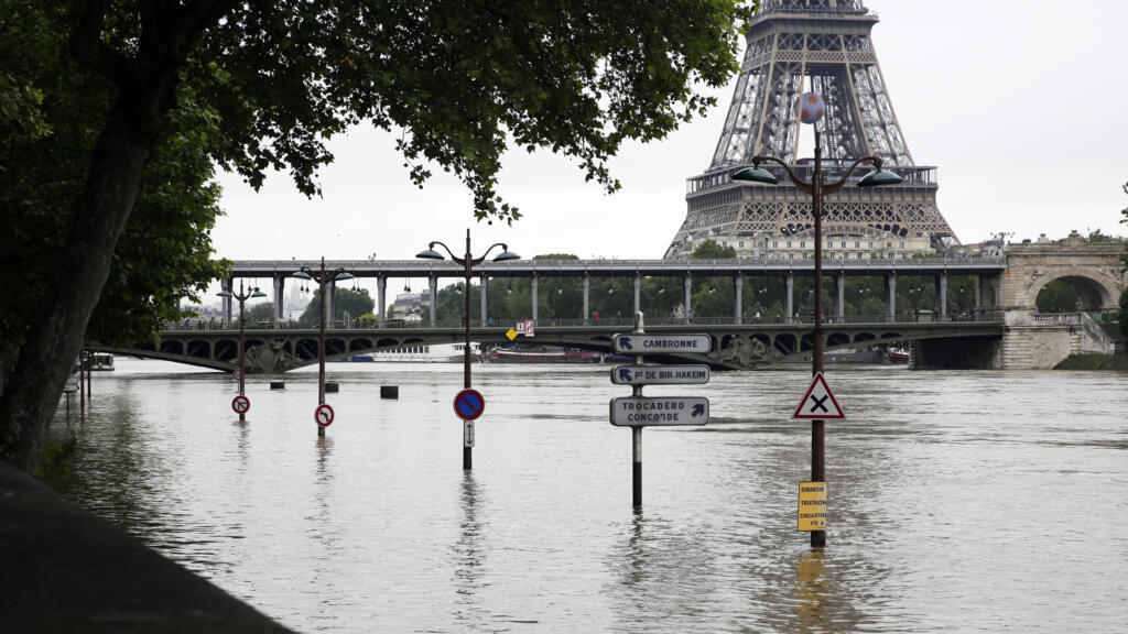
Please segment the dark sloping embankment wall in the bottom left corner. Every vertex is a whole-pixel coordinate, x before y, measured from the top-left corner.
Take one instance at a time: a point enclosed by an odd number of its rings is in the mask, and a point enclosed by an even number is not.
[[[0,461],[0,632],[289,632]]]

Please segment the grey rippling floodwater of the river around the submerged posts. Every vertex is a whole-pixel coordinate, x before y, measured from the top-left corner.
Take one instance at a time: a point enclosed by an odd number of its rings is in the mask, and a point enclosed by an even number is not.
[[[476,366],[464,472],[460,364],[331,364],[318,438],[316,369],[240,424],[229,375],[118,359],[63,493],[300,632],[1126,631],[1128,375],[831,367],[811,551],[809,369],[645,388],[711,422],[643,432],[637,512],[609,371]]]

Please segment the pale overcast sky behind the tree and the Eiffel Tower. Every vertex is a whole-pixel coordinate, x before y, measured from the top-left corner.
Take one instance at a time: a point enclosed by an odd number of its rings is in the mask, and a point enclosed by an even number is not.
[[[1128,2],[1120,0],[869,0],[887,88],[918,165],[938,166],[940,211],[963,243],[1070,229],[1125,235]],[[213,239],[231,259],[411,258],[430,240],[475,255],[506,241],[523,257],[659,258],[686,214],[686,178],[710,164],[735,77],[703,120],[611,162],[606,195],[573,164],[544,152],[504,157],[500,192],[525,217],[476,223],[462,185],[434,168],[411,185],[390,134],[356,129],[332,141],[324,197],[277,175],[258,193],[224,187]]]

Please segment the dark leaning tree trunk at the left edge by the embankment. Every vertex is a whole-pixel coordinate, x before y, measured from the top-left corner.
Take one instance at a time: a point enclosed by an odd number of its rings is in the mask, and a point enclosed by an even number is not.
[[[30,472],[38,465],[71,362],[82,346],[114,247],[133,210],[161,124],[165,91],[151,85],[123,90],[95,148],[59,266],[0,397],[0,459],[20,469]]]

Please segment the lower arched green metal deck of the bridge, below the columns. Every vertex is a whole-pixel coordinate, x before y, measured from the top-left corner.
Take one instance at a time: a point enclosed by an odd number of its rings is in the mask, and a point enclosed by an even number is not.
[[[124,349],[99,347],[106,352],[164,359],[218,370],[235,370],[239,363],[239,329],[169,325],[158,343]],[[611,351],[611,336],[631,332],[629,319],[541,320],[536,335],[526,340],[541,345],[561,345],[605,353]],[[470,338],[483,345],[509,343],[505,326],[472,326]],[[985,311],[962,320],[934,319],[933,316],[887,318],[884,316],[835,319],[825,324],[827,350],[880,344],[902,345],[909,341],[962,340],[998,341],[1003,336],[1004,315]],[[655,356],[659,362],[707,363],[719,369],[751,369],[759,366],[810,356],[811,324],[794,319],[769,323],[734,324],[725,319],[646,320],[646,332],[654,334],[707,333],[713,340],[708,354]],[[461,323],[404,323],[379,327],[326,328],[327,360],[402,349],[405,346],[464,342]],[[277,373],[318,362],[319,332],[309,324],[253,324],[245,332],[248,372]],[[647,358],[650,359],[650,358]]]

